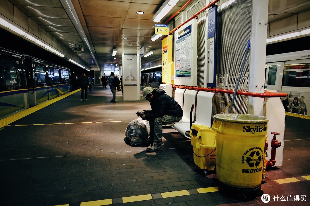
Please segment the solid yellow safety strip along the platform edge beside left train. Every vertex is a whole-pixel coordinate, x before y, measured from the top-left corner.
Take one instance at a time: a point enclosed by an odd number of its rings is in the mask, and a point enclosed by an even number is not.
[[[23,111],[20,111],[18,113],[15,113],[15,114],[12,114],[11,116],[8,116],[8,117],[5,117],[3,119],[0,120],[0,128],[4,127],[4,126],[7,126],[8,124],[11,124],[12,122],[15,122],[16,120],[19,120],[23,117],[26,117],[27,115],[31,114],[31,113],[34,113],[36,111],[38,111],[39,109],[42,109],[48,105],[51,105],[53,103],[55,103],[56,101],[59,101],[65,97],[68,97],[70,96],[71,94],[74,94],[78,91],[81,91],[81,89],[78,89],[78,90],[75,90],[75,91],[72,91],[72,92],[69,92],[69,93],[66,93],[60,97],[56,97],[54,99],[51,99],[49,101],[46,101],[46,102],[43,102],[42,104],[39,104],[39,105],[36,105],[34,107],[31,107],[29,109],[25,109]]]

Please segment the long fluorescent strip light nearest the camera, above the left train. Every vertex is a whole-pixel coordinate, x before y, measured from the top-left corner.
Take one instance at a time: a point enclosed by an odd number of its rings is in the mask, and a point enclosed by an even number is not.
[[[15,27],[14,25],[12,25],[11,23],[7,22],[6,20],[0,18],[0,24],[4,27],[7,27],[8,29],[10,29],[11,31],[16,32],[19,35],[24,36],[25,38],[29,39],[30,41],[40,45],[41,47],[46,48],[47,50],[57,54],[58,56],[64,57],[64,55],[62,53],[60,53],[59,51],[56,51],[54,48],[48,46],[47,44],[41,42],[40,40],[34,38],[33,36],[27,34],[26,32],[24,32],[23,30]]]

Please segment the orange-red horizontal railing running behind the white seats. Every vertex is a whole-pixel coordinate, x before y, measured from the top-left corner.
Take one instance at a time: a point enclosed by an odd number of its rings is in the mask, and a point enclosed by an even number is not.
[[[206,91],[206,92],[218,92],[218,93],[226,93],[226,94],[233,94],[234,90],[225,90],[225,89],[218,89],[218,88],[204,88],[204,87],[193,87],[193,86],[180,86],[180,85],[172,85],[173,88],[180,88],[180,89],[190,89],[190,90],[197,90],[197,91]],[[264,93],[255,93],[255,92],[244,92],[244,91],[237,91],[238,95],[243,95],[247,97],[286,97],[286,93],[281,92],[268,92],[264,91]]]

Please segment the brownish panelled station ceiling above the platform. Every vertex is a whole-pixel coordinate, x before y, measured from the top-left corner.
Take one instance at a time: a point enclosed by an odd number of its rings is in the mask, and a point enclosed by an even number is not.
[[[161,40],[153,42],[150,37],[154,34],[153,16],[164,0],[9,1],[69,50],[81,43],[84,51],[75,55],[90,68],[97,68],[96,61],[101,69],[111,68],[116,62],[121,63],[123,49],[142,46],[147,52],[155,51],[142,57],[142,65],[161,58]],[[159,23],[165,23],[186,2],[180,0]],[[309,9],[309,0],[269,0],[268,23]],[[144,14],[137,14],[138,11]],[[113,48],[117,49],[116,59],[112,56]]]

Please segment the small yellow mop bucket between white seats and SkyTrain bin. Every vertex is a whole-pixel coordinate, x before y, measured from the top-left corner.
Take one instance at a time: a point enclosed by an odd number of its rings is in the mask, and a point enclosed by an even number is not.
[[[194,163],[203,170],[201,174],[207,175],[206,171],[215,168],[215,131],[204,125],[193,124],[191,130],[191,144],[193,145]]]

